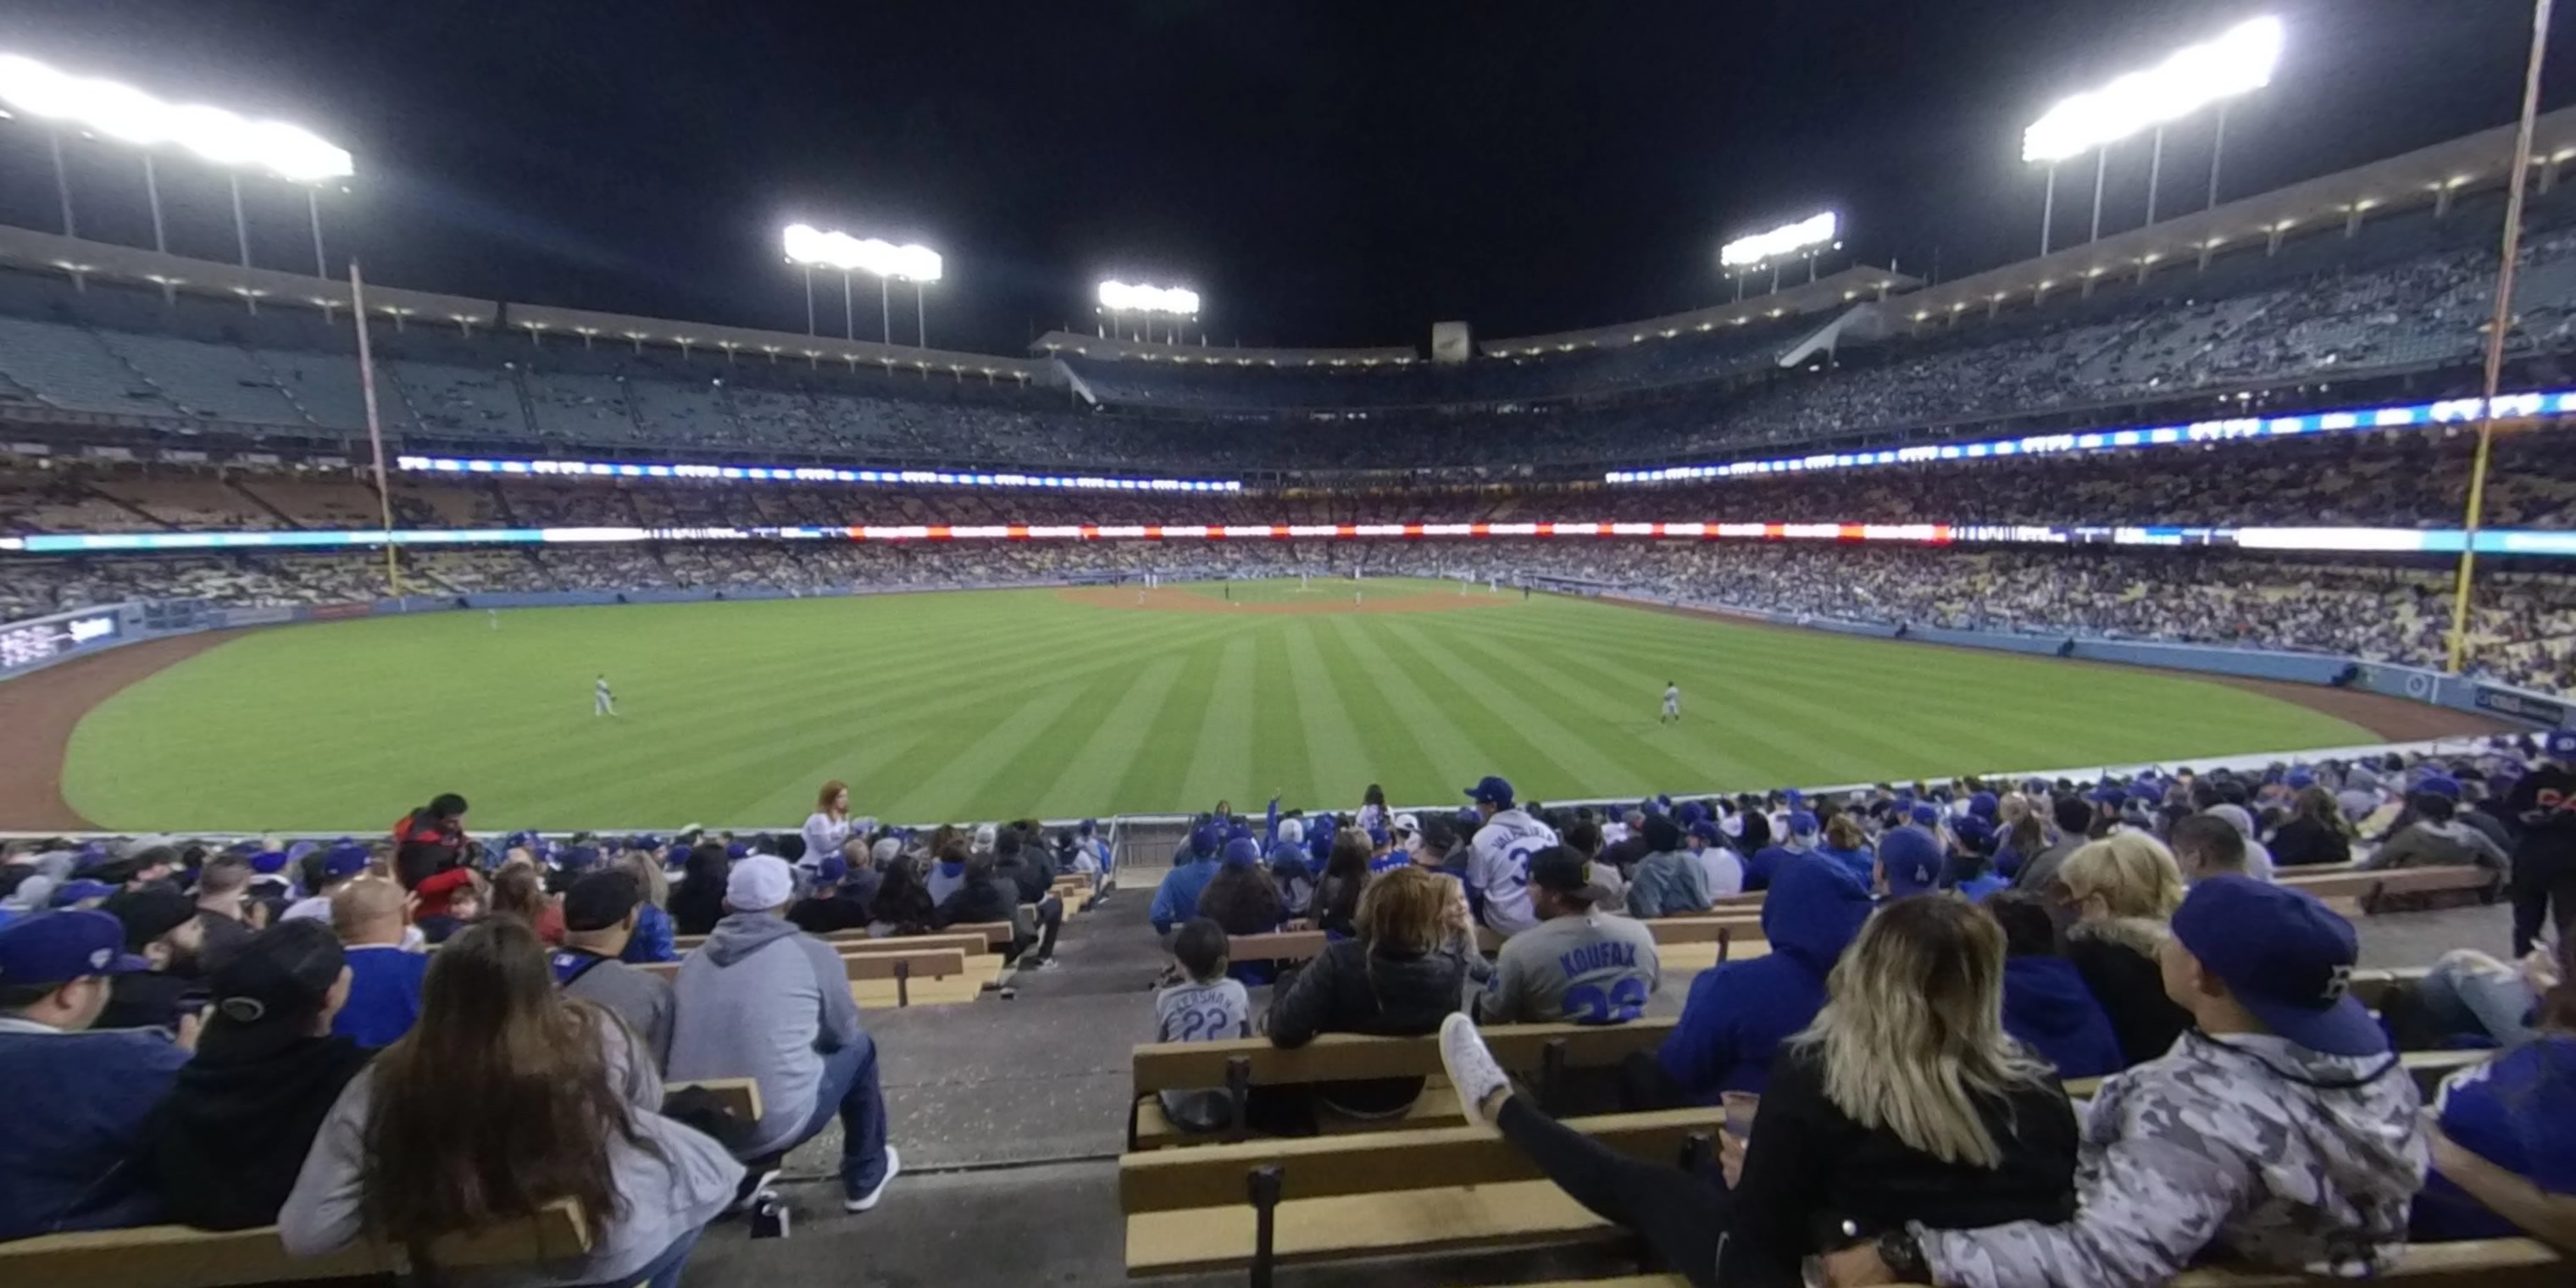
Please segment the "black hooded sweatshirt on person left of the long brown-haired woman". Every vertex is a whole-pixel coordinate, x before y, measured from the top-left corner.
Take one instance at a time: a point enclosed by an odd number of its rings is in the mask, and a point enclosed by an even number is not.
[[[196,1059],[144,1121],[142,1185],[183,1226],[273,1226],[322,1118],[368,1056],[348,1038],[211,1023]]]

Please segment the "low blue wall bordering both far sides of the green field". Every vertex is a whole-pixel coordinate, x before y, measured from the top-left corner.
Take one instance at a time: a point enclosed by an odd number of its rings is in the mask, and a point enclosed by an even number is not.
[[[198,631],[227,631],[240,626],[286,626],[299,621],[348,621],[402,613],[448,613],[474,608],[600,608],[618,603],[714,603],[714,600],[796,600],[796,598],[855,598],[855,595],[920,595],[940,590],[1036,590],[1051,585],[1095,585],[1090,580],[1043,582],[979,582],[979,585],[907,585],[868,590],[786,590],[739,585],[724,590],[513,590],[466,595],[410,595],[374,603],[330,603],[294,608],[211,608],[193,600],[142,600],[77,613],[0,626],[0,680],[31,675],[44,667],[70,662],[93,652],[142,644]],[[2146,639],[2102,639],[2066,634],[2022,631],[1958,631],[1942,626],[1888,626],[1878,621],[1847,621],[1803,613],[1770,613],[1739,608],[1718,600],[1690,600],[1669,595],[1636,595],[1607,585],[1538,580],[1540,590],[1564,595],[1636,603],[1649,608],[1687,608],[1718,613],[1767,626],[1798,626],[1808,631],[1834,631],[1868,639],[1906,639],[1924,644],[1950,644],[1960,649],[2017,652],[2030,657],[2074,657],[2084,662],[2117,662],[2128,667],[2190,670],[2202,675],[2228,675],[2244,680],[2287,680],[2303,685],[2360,688],[2391,698],[2409,698],[2452,711],[2478,711],[2540,729],[2576,726],[2576,703],[2532,693],[2524,688],[2442,675],[2396,662],[2362,662],[2357,657],[2300,654],[2275,649],[2228,649],[2218,644],[2164,644]]]

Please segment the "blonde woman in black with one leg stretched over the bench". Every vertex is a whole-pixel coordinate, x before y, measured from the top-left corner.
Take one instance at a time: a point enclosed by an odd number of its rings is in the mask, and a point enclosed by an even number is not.
[[[1463,1018],[1443,1023],[1440,1059],[1476,1123],[1698,1288],[1790,1288],[1801,1257],[1901,1236],[1909,1221],[2074,1216],[2076,1115],[2048,1064],[2004,1033],[2004,930],[1986,909],[1955,894],[1888,904],[1829,992],[1772,1064],[1734,1188],[1556,1123],[1512,1092]]]

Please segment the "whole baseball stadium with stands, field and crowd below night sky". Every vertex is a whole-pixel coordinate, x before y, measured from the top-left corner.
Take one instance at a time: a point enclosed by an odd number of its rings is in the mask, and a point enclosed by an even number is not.
[[[1440,353],[0,227],[0,1283],[2566,1283],[2566,162]]]

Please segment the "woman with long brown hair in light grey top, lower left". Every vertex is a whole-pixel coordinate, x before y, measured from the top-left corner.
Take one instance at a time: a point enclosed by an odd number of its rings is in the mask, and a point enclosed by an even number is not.
[[[672,1288],[742,1164],[659,1105],[652,1054],[554,987],[526,922],[492,917],[438,951],[420,1023],[340,1092],[278,1236],[296,1257],[374,1239],[425,1260],[572,1200],[587,1255],[479,1283]]]

